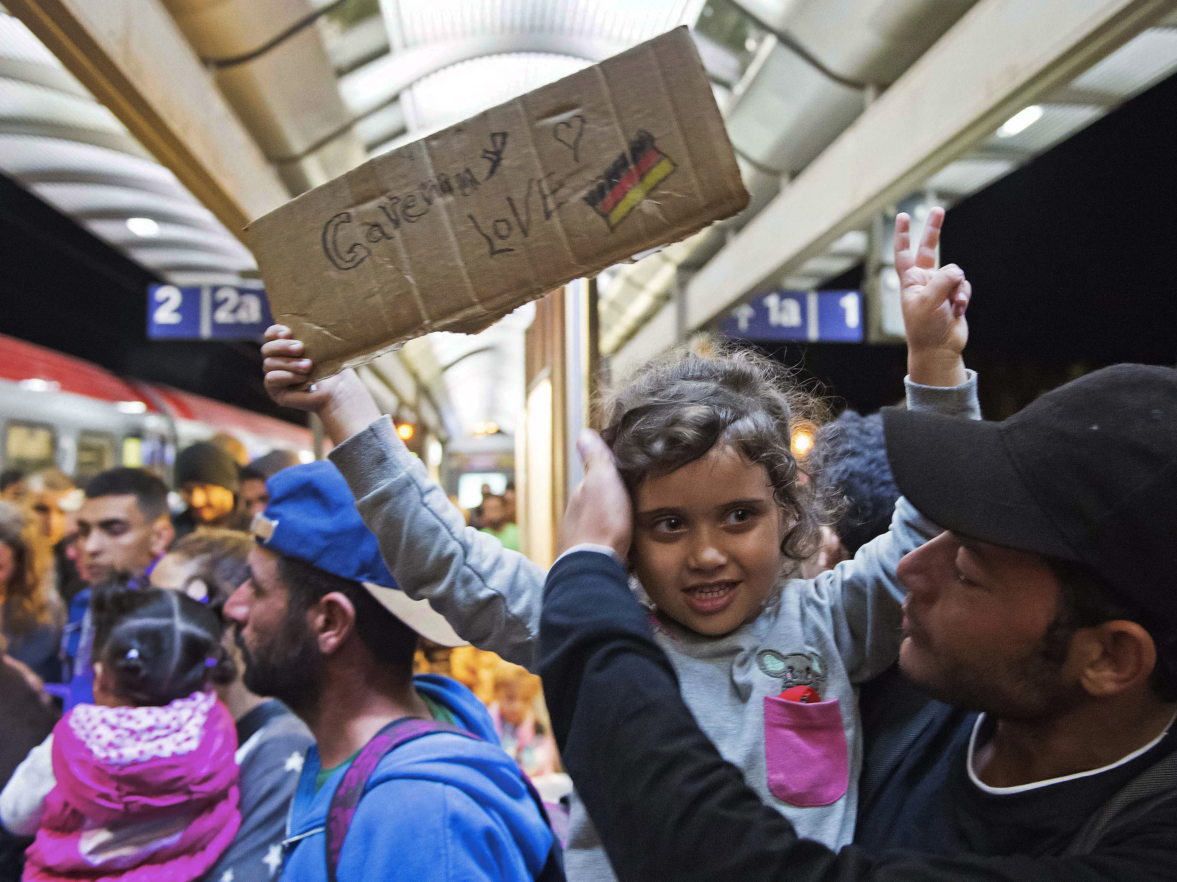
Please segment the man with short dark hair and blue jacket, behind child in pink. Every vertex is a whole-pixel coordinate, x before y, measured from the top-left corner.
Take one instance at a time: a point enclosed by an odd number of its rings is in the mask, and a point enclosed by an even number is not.
[[[141,468],[112,468],[86,485],[78,510],[78,550],[82,572],[91,579],[69,601],[62,653],[69,662],[66,709],[93,702],[94,670],[91,649],[94,629],[89,602],[94,587],[114,583],[146,584],[152,567],[164,556],[175,532],[167,509],[167,485]]]

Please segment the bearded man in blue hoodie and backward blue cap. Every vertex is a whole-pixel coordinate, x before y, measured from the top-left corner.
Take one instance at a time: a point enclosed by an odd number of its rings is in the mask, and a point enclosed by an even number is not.
[[[563,878],[559,846],[486,709],[454,680],[413,676],[418,635],[463,641],[395,588],[335,467],[294,466],[267,489],[251,577],[225,616],[246,687],[284,701],[317,742],[274,870],[298,882]],[[421,721],[445,730],[401,743],[431,728]],[[341,813],[357,793],[354,814]]]

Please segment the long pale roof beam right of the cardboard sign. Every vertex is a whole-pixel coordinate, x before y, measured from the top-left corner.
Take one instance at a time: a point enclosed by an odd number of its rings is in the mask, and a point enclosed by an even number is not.
[[[978,4],[691,280],[689,326],[822,254],[1173,8],[1173,0]],[[673,343],[673,322],[658,318],[620,361]]]

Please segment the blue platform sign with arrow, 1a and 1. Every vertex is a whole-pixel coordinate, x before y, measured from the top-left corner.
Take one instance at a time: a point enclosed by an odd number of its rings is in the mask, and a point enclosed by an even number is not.
[[[863,341],[863,296],[857,290],[774,290],[740,303],[719,329],[744,340]]]

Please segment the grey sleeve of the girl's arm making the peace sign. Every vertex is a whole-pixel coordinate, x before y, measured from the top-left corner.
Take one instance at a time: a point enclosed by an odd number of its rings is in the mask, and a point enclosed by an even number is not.
[[[960,386],[946,388],[906,380],[909,409],[979,420],[977,374],[967,373]],[[853,560],[811,580],[809,603],[827,619],[852,682],[870,680],[898,657],[905,592],[896,568],[905,554],[939,533],[939,527],[900,499],[887,533],[859,548]]]

